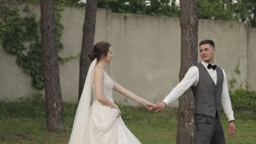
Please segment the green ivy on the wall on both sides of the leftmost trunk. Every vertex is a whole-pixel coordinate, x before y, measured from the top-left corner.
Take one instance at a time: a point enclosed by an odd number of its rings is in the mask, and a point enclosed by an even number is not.
[[[56,3],[56,42],[58,52],[63,49],[61,34],[63,25],[60,23],[61,1]],[[0,6],[0,44],[6,52],[17,56],[16,62],[24,68],[27,74],[32,77],[32,84],[37,89],[43,89],[43,65],[42,65],[42,46],[40,41],[40,21],[36,15],[32,14],[28,7],[23,9],[28,16],[21,17],[19,9]],[[25,45],[28,44],[28,45]],[[58,56],[61,63],[78,58],[71,56],[62,58]]]

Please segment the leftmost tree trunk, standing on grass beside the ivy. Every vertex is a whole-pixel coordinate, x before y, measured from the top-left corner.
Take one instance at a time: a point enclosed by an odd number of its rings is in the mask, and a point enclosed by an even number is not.
[[[63,130],[59,64],[57,61],[55,4],[41,0],[41,37],[44,70],[44,91],[48,131]]]

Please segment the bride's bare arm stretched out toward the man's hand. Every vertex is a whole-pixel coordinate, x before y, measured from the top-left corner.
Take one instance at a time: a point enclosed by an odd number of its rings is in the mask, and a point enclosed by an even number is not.
[[[151,109],[150,106],[153,106],[153,103],[150,103],[149,101],[139,97],[138,95],[132,93],[131,91],[125,89],[124,87],[122,87],[121,85],[119,85],[117,82],[114,81],[114,90],[125,95],[127,98],[130,98],[132,100],[137,101],[138,103],[143,104],[144,106],[146,106],[148,109]]]

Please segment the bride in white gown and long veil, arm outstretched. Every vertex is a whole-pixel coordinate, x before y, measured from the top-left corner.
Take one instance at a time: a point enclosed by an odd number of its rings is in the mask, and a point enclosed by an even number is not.
[[[105,71],[113,57],[109,43],[101,41],[89,53],[92,61],[80,98],[69,144],[136,144],[141,143],[126,127],[121,111],[114,103],[112,90],[143,104],[149,110],[153,103],[120,86]],[[94,97],[91,104],[91,89]]]

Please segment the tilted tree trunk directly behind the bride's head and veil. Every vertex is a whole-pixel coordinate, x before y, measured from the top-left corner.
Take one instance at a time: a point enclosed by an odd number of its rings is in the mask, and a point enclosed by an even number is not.
[[[97,0],[88,0],[85,8],[85,19],[83,26],[82,51],[80,55],[80,71],[79,71],[79,93],[78,100],[84,88],[84,82],[91,60],[88,57],[89,52],[93,50],[94,34],[96,25]]]

